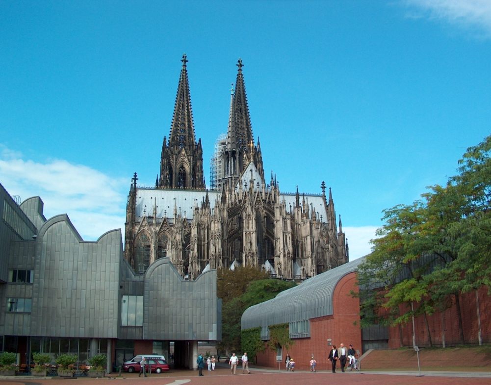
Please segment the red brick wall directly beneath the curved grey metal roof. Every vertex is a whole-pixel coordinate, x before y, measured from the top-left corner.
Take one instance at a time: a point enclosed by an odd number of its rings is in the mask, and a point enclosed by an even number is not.
[[[355,273],[350,273],[343,277],[334,289],[332,297],[333,313],[325,317],[310,319],[310,338],[296,338],[288,351],[283,349],[283,359],[289,353],[295,360],[295,367],[305,370],[310,368],[310,358],[314,355],[319,370],[328,370],[330,361],[327,360],[330,348],[327,339],[339,346],[343,342],[346,346],[352,343],[355,349],[361,351],[361,333],[358,325],[353,325],[355,321],[359,323],[359,301],[353,299],[349,294],[350,290],[357,291],[355,287]],[[278,367],[276,362],[276,352],[266,348],[264,353],[257,355],[259,365]],[[282,363],[281,368],[284,369]]]

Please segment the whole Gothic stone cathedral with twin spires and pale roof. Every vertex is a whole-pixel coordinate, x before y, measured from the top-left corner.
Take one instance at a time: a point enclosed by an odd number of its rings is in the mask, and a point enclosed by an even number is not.
[[[282,193],[266,183],[259,139],[254,144],[239,59],[228,132],[213,155],[205,188],[201,139],[196,142],[187,58],[183,62],[169,139],[164,137],[155,187],[131,183],[125,259],[144,274],[168,257],[186,279],[208,269],[257,266],[272,277],[307,279],[348,262],[348,243],[336,225],[334,203],[322,194]]]

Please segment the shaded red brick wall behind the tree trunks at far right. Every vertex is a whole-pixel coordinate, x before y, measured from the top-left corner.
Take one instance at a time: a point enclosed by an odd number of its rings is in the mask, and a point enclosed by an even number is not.
[[[491,343],[491,298],[488,295],[488,289],[481,287],[479,293],[479,312],[481,317],[481,334],[483,343]],[[462,323],[464,329],[464,343],[478,344],[478,322],[477,322],[477,307],[476,307],[476,292],[472,291],[460,295],[460,305],[462,313]],[[415,304],[417,307],[418,304]],[[401,307],[401,311],[406,309]],[[435,314],[428,315],[428,324],[434,345],[441,346],[442,343],[442,323],[441,313],[437,311]],[[455,299],[453,300],[452,308],[443,312],[445,324],[445,343],[448,346],[454,346],[461,343],[459,334],[459,323],[457,315],[457,307]],[[424,317],[419,316],[414,320],[416,331],[416,345],[429,346],[428,332],[424,322]],[[412,323],[409,322],[403,328],[404,346],[412,346]],[[389,328],[389,348],[400,347],[399,328]]]

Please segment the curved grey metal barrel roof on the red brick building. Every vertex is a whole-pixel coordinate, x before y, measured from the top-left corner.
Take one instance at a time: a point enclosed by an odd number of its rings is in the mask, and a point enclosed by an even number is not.
[[[332,315],[336,284],[356,271],[363,258],[355,259],[282,291],[272,300],[251,306],[242,315],[241,329],[268,327],[286,322]]]

